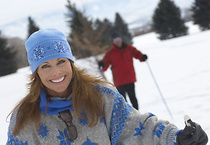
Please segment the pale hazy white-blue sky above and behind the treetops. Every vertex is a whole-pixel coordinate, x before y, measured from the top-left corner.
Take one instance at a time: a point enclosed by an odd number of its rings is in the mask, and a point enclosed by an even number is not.
[[[159,0],[71,0],[92,18],[114,21],[118,12],[126,23],[151,19]],[[188,8],[194,0],[174,0],[180,8]],[[31,16],[41,28],[55,27],[66,31],[67,0],[0,0],[0,30],[6,35],[21,33]],[[18,29],[17,29],[18,28]],[[18,31],[18,32],[16,32]],[[21,35],[21,34],[20,34]],[[25,34],[24,34],[25,35]],[[23,35],[22,35],[23,36]]]

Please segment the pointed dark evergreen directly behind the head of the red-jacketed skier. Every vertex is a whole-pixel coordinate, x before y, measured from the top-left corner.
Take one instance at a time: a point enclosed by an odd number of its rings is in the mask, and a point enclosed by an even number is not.
[[[115,14],[114,31],[118,31],[122,35],[123,41],[128,44],[132,44],[132,36],[128,30],[128,25],[119,13]]]

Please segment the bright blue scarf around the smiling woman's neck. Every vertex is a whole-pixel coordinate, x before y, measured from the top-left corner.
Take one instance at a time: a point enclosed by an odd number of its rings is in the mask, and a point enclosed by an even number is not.
[[[41,89],[40,100],[41,101],[40,101],[39,107],[42,112],[45,112],[47,114],[57,115],[59,112],[64,111],[64,110],[73,111],[71,95],[67,99],[52,97],[51,101],[47,103],[46,93],[44,89]]]

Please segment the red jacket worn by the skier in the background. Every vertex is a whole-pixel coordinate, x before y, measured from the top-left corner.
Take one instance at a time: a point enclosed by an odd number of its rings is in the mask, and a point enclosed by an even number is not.
[[[132,45],[126,45],[122,50],[112,45],[103,58],[103,71],[111,65],[115,86],[121,86],[136,82],[133,57],[142,61],[142,53]]]

